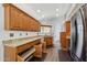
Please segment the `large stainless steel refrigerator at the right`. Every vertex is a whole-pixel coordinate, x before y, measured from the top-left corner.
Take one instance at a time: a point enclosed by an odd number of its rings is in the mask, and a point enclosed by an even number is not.
[[[70,56],[74,62],[86,61],[85,51],[85,19],[80,8],[72,18],[70,32]]]

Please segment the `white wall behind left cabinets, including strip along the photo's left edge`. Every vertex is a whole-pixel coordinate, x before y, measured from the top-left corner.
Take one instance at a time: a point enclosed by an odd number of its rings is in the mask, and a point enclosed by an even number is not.
[[[14,36],[10,37],[10,33],[13,33]],[[20,36],[20,33],[22,35]],[[28,33],[28,35],[25,35]],[[0,4],[0,61],[3,61],[3,45],[2,41],[10,39],[19,39],[19,37],[29,37],[35,36],[37,32],[24,32],[24,31],[4,31],[4,9],[2,4]]]

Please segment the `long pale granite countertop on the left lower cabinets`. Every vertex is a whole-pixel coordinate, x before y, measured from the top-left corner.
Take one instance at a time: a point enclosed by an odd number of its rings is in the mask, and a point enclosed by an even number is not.
[[[28,42],[33,42],[35,40],[43,39],[43,37],[44,36],[33,36],[33,37],[25,37],[25,39],[9,40],[9,41],[3,41],[3,44],[8,46],[17,47]]]

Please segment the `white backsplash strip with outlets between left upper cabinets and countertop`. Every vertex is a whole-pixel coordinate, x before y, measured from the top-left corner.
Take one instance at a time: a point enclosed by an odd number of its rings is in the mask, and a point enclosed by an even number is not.
[[[24,32],[24,31],[3,31],[0,32],[2,40],[21,39],[37,35],[37,32]]]

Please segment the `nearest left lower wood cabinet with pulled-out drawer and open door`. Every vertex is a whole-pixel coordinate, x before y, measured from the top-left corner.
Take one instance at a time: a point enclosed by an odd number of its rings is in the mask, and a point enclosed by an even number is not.
[[[26,62],[34,56],[34,53],[37,53],[39,56],[42,56],[42,44],[40,44],[40,42],[41,40],[39,39],[33,42],[22,44],[20,46],[4,45],[4,61]],[[37,46],[37,48],[34,45]]]

